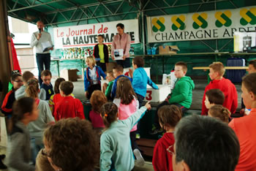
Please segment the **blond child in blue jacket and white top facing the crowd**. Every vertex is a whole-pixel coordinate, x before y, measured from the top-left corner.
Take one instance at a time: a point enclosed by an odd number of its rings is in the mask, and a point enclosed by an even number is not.
[[[84,90],[86,91],[86,97],[90,99],[94,90],[101,91],[100,76],[105,79],[106,75],[99,66],[95,66],[96,61],[93,56],[86,58],[86,64],[88,67],[84,72]]]

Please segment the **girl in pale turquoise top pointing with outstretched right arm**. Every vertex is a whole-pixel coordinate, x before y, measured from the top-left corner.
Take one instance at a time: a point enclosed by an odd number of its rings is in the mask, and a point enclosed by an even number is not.
[[[135,165],[129,132],[150,110],[149,102],[126,120],[118,120],[118,107],[112,102],[104,104],[101,115],[105,131],[100,137],[100,170],[132,170]]]

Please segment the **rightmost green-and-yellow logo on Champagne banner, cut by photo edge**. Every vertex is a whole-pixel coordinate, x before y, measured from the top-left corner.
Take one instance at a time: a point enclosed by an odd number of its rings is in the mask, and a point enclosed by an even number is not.
[[[253,7],[251,9],[241,9],[240,11],[240,15],[241,15],[241,19],[240,19],[240,23],[243,26],[246,26],[248,23],[250,23],[251,25],[255,25],[256,24],[256,8]]]

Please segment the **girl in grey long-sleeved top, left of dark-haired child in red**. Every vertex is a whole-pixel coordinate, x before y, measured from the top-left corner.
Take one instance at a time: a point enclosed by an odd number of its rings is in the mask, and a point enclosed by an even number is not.
[[[37,104],[39,110],[39,117],[36,121],[29,123],[28,129],[31,135],[31,138],[35,139],[35,149],[34,149],[34,158],[36,158],[37,153],[41,148],[44,147],[42,142],[43,132],[48,126],[48,123],[55,122],[53,115],[50,111],[48,102],[38,99],[39,93],[39,84],[36,79],[31,79],[27,82],[26,86],[26,95],[33,98]]]

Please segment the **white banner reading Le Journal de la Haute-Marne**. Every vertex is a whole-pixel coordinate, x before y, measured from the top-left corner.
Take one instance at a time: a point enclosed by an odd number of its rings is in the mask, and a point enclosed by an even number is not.
[[[67,26],[53,28],[54,48],[86,47],[94,46],[97,35],[102,34],[105,44],[111,44],[113,37],[117,34],[116,24],[124,24],[124,32],[131,37],[131,43],[139,43],[138,19],[118,20],[107,23],[95,23],[79,26]]]

